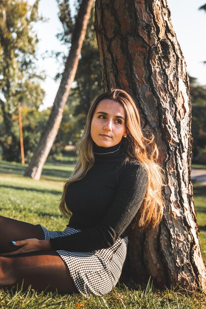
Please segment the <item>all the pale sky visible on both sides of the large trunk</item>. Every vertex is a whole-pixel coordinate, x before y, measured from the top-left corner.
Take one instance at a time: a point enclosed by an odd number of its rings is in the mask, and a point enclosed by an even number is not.
[[[29,2],[32,3],[33,0]],[[196,77],[200,84],[206,85],[206,64],[203,64],[203,61],[206,61],[206,12],[199,10],[206,0],[167,0],[167,3],[188,73],[192,77]],[[38,66],[40,70],[45,71],[47,76],[45,82],[42,83],[46,92],[42,108],[46,108],[53,104],[59,86],[59,81],[54,81],[54,77],[59,71],[59,64],[55,59],[42,60],[41,54],[46,50],[67,53],[67,48],[61,45],[56,38],[56,34],[62,30],[57,16],[56,0],[41,0],[39,11],[43,17],[48,19],[47,22],[40,22],[36,25],[40,39]]]

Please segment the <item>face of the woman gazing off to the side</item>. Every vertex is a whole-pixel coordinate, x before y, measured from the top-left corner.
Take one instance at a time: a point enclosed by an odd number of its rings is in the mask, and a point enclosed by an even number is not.
[[[126,135],[124,108],[118,102],[104,99],[97,105],[91,120],[91,138],[97,146],[115,146]]]

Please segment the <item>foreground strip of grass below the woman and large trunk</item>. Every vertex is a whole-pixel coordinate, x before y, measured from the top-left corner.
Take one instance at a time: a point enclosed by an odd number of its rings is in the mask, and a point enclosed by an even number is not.
[[[157,292],[150,284],[145,290],[116,287],[104,297],[91,296],[90,299],[79,295],[37,293],[34,290],[0,292],[1,309],[204,309],[205,304],[204,294],[183,295],[173,290]]]

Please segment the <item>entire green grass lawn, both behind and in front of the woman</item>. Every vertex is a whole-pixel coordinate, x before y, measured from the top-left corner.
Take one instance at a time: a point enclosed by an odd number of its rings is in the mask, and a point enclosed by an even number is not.
[[[23,177],[25,167],[0,161],[0,214],[41,224],[51,230],[62,230],[67,224],[58,209],[63,182],[69,178],[75,160],[48,162],[40,181]],[[194,185],[194,198],[200,227],[202,251],[206,260],[206,187]],[[149,283],[141,288],[130,283],[119,284],[104,297],[60,295],[18,290],[0,291],[0,309],[204,309],[206,296],[199,293],[180,294],[173,290],[158,291]]]

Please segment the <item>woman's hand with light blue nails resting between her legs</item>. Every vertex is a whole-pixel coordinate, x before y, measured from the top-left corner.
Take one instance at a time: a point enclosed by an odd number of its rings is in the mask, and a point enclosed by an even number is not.
[[[40,240],[37,238],[29,238],[19,241],[12,241],[12,245],[19,247],[17,250],[2,253],[0,256],[8,256],[8,255],[15,255],[15,254],[23,254],[35,251],[47,251],[51,250],[51,245],[49,240]]]

